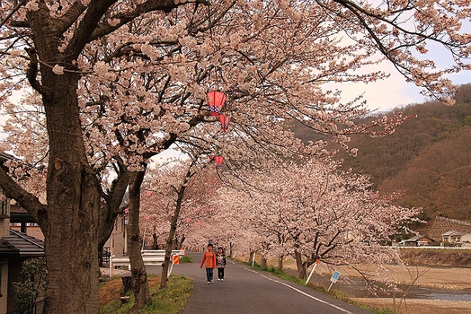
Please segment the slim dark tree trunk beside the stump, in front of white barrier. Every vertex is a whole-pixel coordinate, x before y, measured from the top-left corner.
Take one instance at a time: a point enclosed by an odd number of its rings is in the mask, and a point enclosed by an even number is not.
[[[131,264],[132,290],[135,298],[132,310],[142,309],[150,302],[147,271],[140,252],[139,233],[140,187],[145,173],[146,170],[144,169],[133,171],[129,175],[128,255]]]

